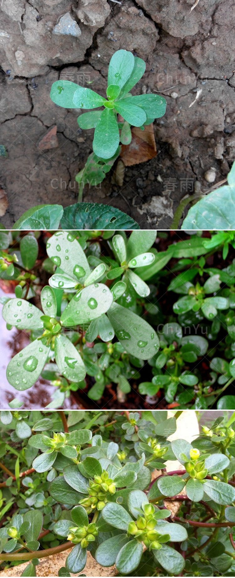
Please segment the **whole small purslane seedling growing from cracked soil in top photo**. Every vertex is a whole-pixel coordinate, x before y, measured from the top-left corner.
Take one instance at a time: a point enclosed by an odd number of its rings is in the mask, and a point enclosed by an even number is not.
[[[131,142],[130,125],[143,127],[163,116],[166,100],[157,94],[131,95],[131,89],[145,72],[145,62],[127,50],[116,51],[109,62],[107,98],[69,80],[57,80],[50,98],[64,108],[92,109],[78,117],[80,128],[95,128],[93,150],[101,158],[115,155],[119,141]],[[95,111],[93,109],[104,109]],[[117,114],[124,118],[118,123]],[[121,134],[119,135],[119,129]]]

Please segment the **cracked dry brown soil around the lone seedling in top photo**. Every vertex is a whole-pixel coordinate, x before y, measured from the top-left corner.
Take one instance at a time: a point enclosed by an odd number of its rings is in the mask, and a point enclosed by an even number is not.
[[[170,227],[175,209],[195,188],[207,191],[204,173],[224,179],[235,158],[235,37],[233,0],[2,0],[0,16],[0,187],[9,200],[1,222],[32,206],[76,202],[75,175],[91,152],[93,131],[76,122],[79,110],[50,101],[60,77],[105,95],[108,63],[119,49],[146,61],[134,94],[156,92],[167,100],[155,121],[157,157],[126,167],[115,183],[115,165],[100,186],[85,188],[87,202],[109,203],[141,228]],[[69,13],[78,36],[54,34]],[[196,99],[197,91],[201,90]],[[192,102],[195,101],[192,105]],[[190,106],[192,105],[192,106]],[[57,127],[53,148],[41,141]],[[50,140],[50,139],[49,139]]]

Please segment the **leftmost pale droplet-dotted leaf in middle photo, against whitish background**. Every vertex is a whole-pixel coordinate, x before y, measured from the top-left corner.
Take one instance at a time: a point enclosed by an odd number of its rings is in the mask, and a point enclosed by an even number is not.
[[[25,299],[9,299],[2,309],[2,317],[18,329],[43,329],[42,312]]]

